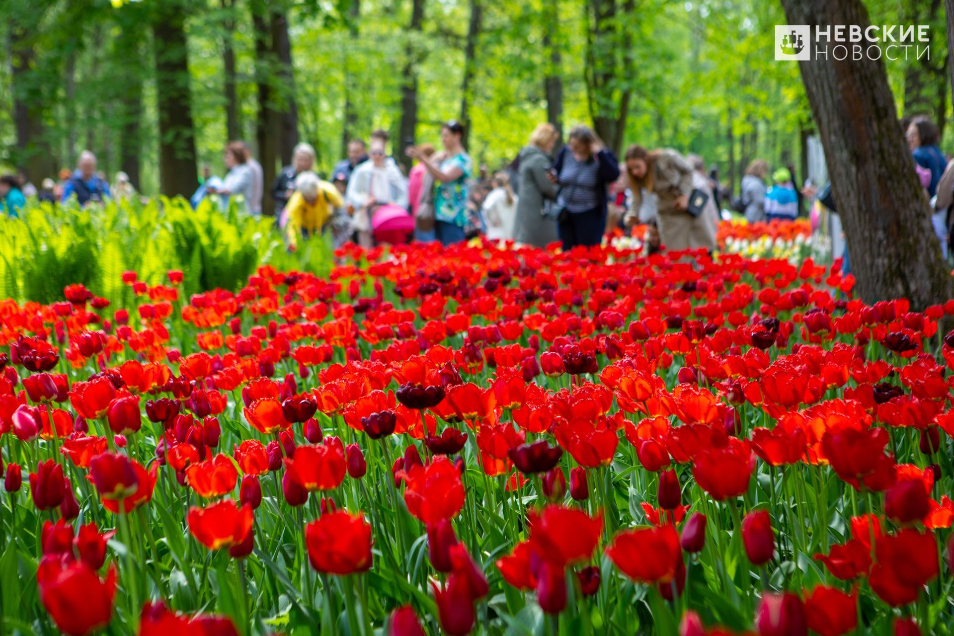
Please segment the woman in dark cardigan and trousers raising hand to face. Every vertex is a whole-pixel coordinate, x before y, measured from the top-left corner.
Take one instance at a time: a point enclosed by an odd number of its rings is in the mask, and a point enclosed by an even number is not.
[[[619,178],[619,162],[587,126],[570,130],[553,162],[557,233],[563,249],[599,245],[606,232],[607,188]]]

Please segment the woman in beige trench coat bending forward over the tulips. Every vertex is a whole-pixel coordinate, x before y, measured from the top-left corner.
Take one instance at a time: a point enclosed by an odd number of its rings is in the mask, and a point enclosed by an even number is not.
[[[668,148],[650,152],[633,144],[626,150],[626,172],[633,191],[633,202],[625,218],[627,226],[638,218],[645,189],[658,197],[656,223],[667,249],[716,249],[712,218],[687,211],[689,196],[693,194],[693,167],[681,154]]]

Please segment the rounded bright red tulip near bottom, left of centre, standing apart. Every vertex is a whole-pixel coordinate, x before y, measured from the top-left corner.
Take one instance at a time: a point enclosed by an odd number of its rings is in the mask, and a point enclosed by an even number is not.
[[[351,574],[371,567],[371,526],[344,510],[322,515],[304,529],[308,561],[326,574]]]

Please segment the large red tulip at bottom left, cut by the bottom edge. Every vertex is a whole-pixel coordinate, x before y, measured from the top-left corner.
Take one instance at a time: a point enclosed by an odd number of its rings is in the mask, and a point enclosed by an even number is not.
[[[83,636],[109,624],[116,589],[113,567],[105,581],[83,562],[55,572],[46,571],[43,576],[40,580],[40,571],[37,572],[40,598],[60,631]]]

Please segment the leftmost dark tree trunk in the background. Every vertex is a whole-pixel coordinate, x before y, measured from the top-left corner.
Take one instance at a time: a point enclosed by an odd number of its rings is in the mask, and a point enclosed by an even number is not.
[[[38,16],[35,18],[38,22]],[[24,16],[24,19],[30,18]],[[39,179],[54,174],[56,165],[49,142],[45,138],[43,125],[43,110],[47,101],[39,93],[36,82],[31,77],[35,64],[33,38],[36,32],[35,23],[25,24],[20,19],[10,21],[10,79],[13,93],[13,127],[16,129],[14,161],[32,181],[39,182]]]

